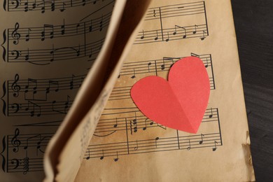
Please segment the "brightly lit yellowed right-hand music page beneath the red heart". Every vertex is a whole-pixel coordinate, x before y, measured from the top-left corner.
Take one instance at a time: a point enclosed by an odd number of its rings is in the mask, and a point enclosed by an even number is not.
[[[167,79],[172,64],[187,56],[202,59],[211,84],[197,134],[149,120],[130,97],[137,80]],[[249,142],[230,1],[157,0],[146,12],[76,181],[253,181]]]

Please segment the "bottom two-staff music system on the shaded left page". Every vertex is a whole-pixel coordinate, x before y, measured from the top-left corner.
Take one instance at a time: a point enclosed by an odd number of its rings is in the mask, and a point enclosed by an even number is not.
[[[0,153],[3,171],[23,174],[43,171],[43,153],[53,134],[20,134],[16,128],[14,134],[4,136]]]

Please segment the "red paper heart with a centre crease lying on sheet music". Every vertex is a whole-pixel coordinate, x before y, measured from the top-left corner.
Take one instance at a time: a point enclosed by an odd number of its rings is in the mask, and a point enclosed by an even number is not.
[[[131,89],[131,97],[144,115],[167,127],[197,133],[209,102],[207,70],[198,57],[177,61],[169,81],[158,76],[142,78]]]

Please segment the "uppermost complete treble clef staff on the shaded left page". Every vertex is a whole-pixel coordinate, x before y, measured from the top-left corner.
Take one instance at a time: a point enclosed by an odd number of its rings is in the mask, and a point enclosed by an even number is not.
[[[64,22],[63,25],[43,25],[43,27],[20,28],[20,25],[17,22],[14,29],[8,29],[8,41],[12,41],[14,45],[17,45],[20,40],[25,40],[27,42],[40,39],[41,41],[45,41],[48,38],[79,36],[94,31],[102,31],[104,27],[109,25],[111,14],[112,12],[86,22],[69,25],[66,25]]]

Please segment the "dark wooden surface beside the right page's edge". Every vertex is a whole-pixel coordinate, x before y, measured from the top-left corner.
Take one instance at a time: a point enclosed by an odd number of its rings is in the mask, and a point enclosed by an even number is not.
[[[256,181],[273,181],[273,1],[232,0]]]

